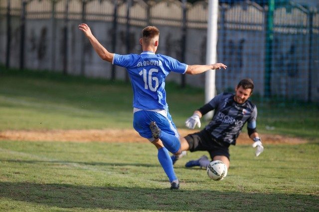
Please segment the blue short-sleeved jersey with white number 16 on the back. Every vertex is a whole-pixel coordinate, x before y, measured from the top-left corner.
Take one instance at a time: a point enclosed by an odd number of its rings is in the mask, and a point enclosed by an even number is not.
[[[144,110],[167,109],[165,77],[170,71],[187,70],[186,64],[153,52],[114,54],[112,63],[127,69],[133,88],[133,107]]]

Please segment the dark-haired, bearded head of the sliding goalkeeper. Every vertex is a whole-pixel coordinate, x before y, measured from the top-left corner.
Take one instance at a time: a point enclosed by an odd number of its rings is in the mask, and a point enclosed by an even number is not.
[[[253,94],[254,90],[254,82],[251,79],[242,79],[235,87],[235,102],[239,104],[243,104],[247,101],[247,99]]]

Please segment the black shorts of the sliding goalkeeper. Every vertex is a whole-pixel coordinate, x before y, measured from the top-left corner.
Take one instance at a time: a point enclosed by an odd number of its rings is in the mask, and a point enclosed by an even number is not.
[[[189,151],[208,151],[211,159],[217,155],[226,156],[228,159],[229,154],[229,143],[218,142],[213,139],[206,130],[202,130],[198,133],[189,134],[185,137],[189,144]]]

